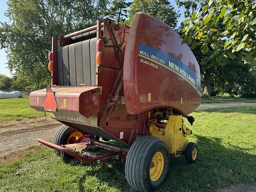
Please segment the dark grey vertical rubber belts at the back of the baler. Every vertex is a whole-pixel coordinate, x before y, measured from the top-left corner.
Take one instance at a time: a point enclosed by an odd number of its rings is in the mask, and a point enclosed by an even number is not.
[[[96,38],[57,50],[58,85],[96,84]]]

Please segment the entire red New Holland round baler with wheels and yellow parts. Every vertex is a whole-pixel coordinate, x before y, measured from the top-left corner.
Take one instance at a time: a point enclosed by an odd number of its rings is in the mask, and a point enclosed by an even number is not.
[[[196,162],[198,148],[188,142],[192,131],[183,119],[192,124],[188,114],[200,105],[200,68],[172,28],[137,13],[130,28],[105,19],[61,35],[57,44],[52,37],[52,85],[32,92],[30,106],[63,125],[52,143],[40,143],[63,160],[117,156],[140,192],[163,184],[170,156]]]

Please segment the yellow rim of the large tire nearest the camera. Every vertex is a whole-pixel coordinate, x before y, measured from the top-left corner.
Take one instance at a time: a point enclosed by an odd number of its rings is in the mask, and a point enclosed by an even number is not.
[[[161,152],[156,152],[151,160],[150,179],[156,181],[160,178],[164,170],[164,156]]]

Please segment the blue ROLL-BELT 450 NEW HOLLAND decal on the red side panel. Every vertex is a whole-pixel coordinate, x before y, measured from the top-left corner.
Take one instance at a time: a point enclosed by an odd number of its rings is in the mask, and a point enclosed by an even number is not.
[[[176,73],[189,84],[191,84],[198,92],[201,92],[201,80],[196,76],[187,65],[173,56],[168,55],[156,48],[149,47],[148,45],[139,45],[139,56],[144,59],[150,60],[156,64],[160,64],[164,68]],[[140,62],[148,64],[151,67],[158,69],[158,65],[151,63],[150,61],[140,59]]]

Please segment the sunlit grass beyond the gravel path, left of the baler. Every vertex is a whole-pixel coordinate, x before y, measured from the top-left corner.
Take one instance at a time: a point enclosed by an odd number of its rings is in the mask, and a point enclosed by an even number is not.
[[[44,112],[38,112],[29,106],[29,97],[0,100],[0,121],[42,116]]]

